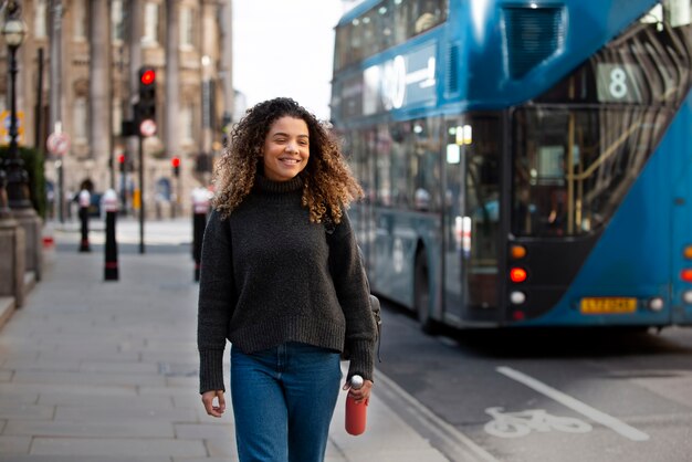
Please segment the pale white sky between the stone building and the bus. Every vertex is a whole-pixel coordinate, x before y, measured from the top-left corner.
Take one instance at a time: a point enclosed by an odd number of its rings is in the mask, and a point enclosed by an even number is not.
[[[290,96],[329,116],[334,27],[340,0],[234,0],[233,85],[248,106]]]

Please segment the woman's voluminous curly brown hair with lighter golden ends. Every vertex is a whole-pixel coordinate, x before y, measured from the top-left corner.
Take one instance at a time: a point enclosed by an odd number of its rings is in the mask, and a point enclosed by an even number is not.
[[[272,124],[281,117],[305,122],[310,135],[310,158],[300,174],[304,180],[303,206],[310,220],[319,223],[325,213],[340,222],[343,209],[363,197],[363,189],[342,156],[336,136],[303,106],[291,98],[274,98],[248,109],[231,133],[230,144],[214,168],[217,193],[213,207],[227,219],[243,201],[261,171],[260,154]]]

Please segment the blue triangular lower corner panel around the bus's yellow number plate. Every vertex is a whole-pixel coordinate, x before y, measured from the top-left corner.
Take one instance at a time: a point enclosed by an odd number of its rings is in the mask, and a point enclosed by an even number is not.
[[[682,248],[692,243],[690,104],[688,97],[565,296],[555,309],[526,324],[663,326],[673,319],[671,305],[677,322],[690,322],[692,309],[683,308],[680,297],[692,284],[679,280]],[[679,172],[675,180],[673,171]],[[675,206],[677,198],[684,204]],[[584,315],[584,297],[638,297],[640,303],[632,314]],[[651,297],[661,297],[664,308],[648,309],[643,301]]]

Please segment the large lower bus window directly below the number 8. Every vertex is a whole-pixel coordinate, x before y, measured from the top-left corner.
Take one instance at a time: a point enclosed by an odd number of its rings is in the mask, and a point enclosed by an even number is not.
[[[651,154],[665,117],[643,108],[517,111],[512,232],[577,235],[605,224]]]

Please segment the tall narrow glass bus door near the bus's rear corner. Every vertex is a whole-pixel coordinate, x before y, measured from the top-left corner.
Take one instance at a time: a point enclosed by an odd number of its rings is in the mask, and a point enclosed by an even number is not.
[[[445,133],[447,321],[496,323],[501,118],[486,114],[449,118]]]

